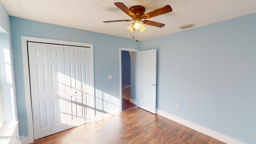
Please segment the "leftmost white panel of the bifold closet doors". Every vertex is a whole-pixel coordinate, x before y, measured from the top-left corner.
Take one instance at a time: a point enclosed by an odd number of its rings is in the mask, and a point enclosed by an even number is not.
[[[28,42],[34,139],[52,134],[47,45]]]

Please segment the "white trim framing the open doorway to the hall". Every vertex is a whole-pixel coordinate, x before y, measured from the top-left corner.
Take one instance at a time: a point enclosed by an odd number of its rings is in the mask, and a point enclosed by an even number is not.
[[[140,51],[140,50],[136,50],[136,49],[132,49],[132,48],[119,48],[120,112],[122,112],[122,54],[121,54],[122,50],[130,51],[130,52]],[[137,63],[137,60],[136,60],[136,63]],[[137,70],[136,70],[136,85],[137,85]],[[137,102],[138,102],[138,96],[137,96]]]

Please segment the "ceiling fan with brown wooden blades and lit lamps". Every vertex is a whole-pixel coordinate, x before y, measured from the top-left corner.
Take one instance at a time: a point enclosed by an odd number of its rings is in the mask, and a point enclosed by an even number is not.
[[[146,30],[146,27],[143,26],[142,23],[150,25],[150,26],[156,26],[156,27],[162,28],[163,26],[165,26],[165,24],[162,24],[160,22],[154,22],[154,21],[147,20],[147,19],[172,11],[172,7],[170,5],[166,5],[163,8],[158,8],[156,10],[153,10],[153,11],[145,14],[146,9],[144,6],[132,6],[132,7],[128,8],[122,2],[115,2],[114,4],[118,8],[120,8],[120,10],[122,10],[128,16],[130,16],[132,18],[132,20],[134,21],[132,24],[130,24],[130,26],[127,27],[127,29],[130,32],[133,32],[134,30],[140,30],[140,32],[144,32]],[[108,22],[130,22],[132,20],[110,20],[110,21],[104,21],[104,22],[105,23],[108,23]]]

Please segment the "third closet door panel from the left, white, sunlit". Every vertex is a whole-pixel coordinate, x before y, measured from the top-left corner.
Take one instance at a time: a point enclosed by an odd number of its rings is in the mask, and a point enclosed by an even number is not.
[[[68,128],[80,125],[82,113],[81,78],[78,65],[78,47],[64,46],[65,84]]]

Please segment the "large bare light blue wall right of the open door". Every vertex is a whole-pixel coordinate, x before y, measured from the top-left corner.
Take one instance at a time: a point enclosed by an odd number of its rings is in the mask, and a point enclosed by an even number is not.
[[[159,110],[256,144],[256,13],[141,42],[154,48]]]

